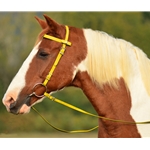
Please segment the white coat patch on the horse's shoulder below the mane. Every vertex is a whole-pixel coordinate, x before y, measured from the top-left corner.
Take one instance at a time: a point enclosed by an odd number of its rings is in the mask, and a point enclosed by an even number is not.
[[[136,68],[136,65],[135,65]],[[150,121],[150,96],[144,86],[139,70],[132,79],[129,90],[131,94],[131,116],[136,122]],[[150,124],[137,124],[142,137],[150,137]]]

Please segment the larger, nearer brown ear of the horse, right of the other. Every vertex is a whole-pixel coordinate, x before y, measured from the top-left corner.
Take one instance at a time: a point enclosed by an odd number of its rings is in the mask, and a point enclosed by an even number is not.
[[[43,16],[45,17],[49,28],[53,31],[57,31],[58,28],[60,27],[60,25],[57,22],[55,22],[54,20],[52,20],[50,17],[48,17],[47,15],[43,15]]]

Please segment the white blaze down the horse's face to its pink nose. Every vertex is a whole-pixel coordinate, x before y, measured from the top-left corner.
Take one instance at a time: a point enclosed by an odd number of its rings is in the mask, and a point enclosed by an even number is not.
[[[10,98],[13,98],[13,100],[16,101],[20,91],[24,88],[26,73],[29,69],[30,63],[32,62],[34,56],[38,52],[37,49],[38,49],[39,44],[37,44],[33,48],[31,53],[29,54],[29,56],[26,58],[26,60],[22,64],[22,66],[19,69],[18,73],[16,74],[16,76],[14,77],[12,82],[10,83],[10,85],[9,85],[9,87],[8,87],[4,97],[3,97],[3,100],[2,100],[4,105],[6,105],[6,102],[8,100],[10,100]],[[6,106],[6,107],[9,107],[9,106]]]

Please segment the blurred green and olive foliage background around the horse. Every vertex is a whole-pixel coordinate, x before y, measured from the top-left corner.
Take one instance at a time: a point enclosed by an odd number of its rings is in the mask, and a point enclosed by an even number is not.
[[[125,39],[141,48],[150,57],[150,12],[0,12],[0,99],[32,50],[41,31],[35,16],[49,15],[60,24],[92,28]],[[54,95],[79,108],[95,113],[88,99],[77,88],[66,88]],[[88,129],[98,120],[44,99],[35,107],[53,125],[66,129]],[[65,137],[49,127],[33,110],[25,115],[13,115],[0,103],[0,137]],[[97,137],[92,133],[74,137]]]

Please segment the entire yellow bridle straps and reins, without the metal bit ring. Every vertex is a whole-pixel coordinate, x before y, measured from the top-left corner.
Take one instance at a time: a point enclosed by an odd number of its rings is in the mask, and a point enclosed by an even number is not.
[[[56,37],[53,37],[53,36],[50,36],[50,35],[47,35],[45,34],[44,35],[44,38],[46,39],[50,39],[50,40],[53,40],[53,41],[56,41],[56,42],[59,42],[59,43],[62,43],[62,48],[60,49],[57,57],[56,57],[56,60],[51,68],[51,70],[49,71],[48,75],[46,76],[46,79],[44,80],[44,82],[42,83],[42,85],[44,87],[46,87],[48,81],[51,79],[52,75],[53,75],[53,72],[56,68],[56,66],[58,65],[61,57],[63,56],[65,50],[66,50],[66,46],[71,46],[71,42],[68,41],[68,38],[69,38],[69,28],[68,26],[65,26],[66,27],[66,37],[65,37],[65,40],[63,39],[59,39],[59,38],[56,38]],[[46,88],[47,89],[47,88]],[[36,96],[36,95],[35,95]],[[92,113],[89,113],[87,111],[84,111],[80,108],[77,108],[71,104],[68,104],[66,102],[63,102],[53,96],[51,96],[50,94],[47,93],[47,91],[44,93],[44,96],[46,96],[47,98],[49,98],[50,100],[52,101],[55,101],[59,104],[62,104],[66,107],[69,107],[73,110],[76,110],[80,113],[83,113],[83,114],[86,114],[86,115],[89,115],[89,116],[92,116],[92,117],[96,117],[96,118],[100,118],[100,119],[104,119],[104,120],[109,120],[109,121],[113,121],[113,122],[118,122],[118,123],[124,123],[124,124],[150,124],[150,121],[145,121],[145,122],[130,122],[130,121],[124,121],[124,120],[116,120],[116,119],[110,119],[110,118],[106,118],[106,117],[102,117],[102,116],[98,116],[98,115],[95,115],[95,114],[92,114]],[[94,128],[91,128],[91,129],[88,129],[88,130],[76,130],[76,131],[67,131],[67,130],[63,130],[63,129],[60,129],[60,128],[57,128],[55,126],[53,126],[52,124],[50,124],[34,107],[32,107],[32,109],[38,113],[40,115],[40,117],[47,123],[49,124],[51,127],[53,127],[54,129],[58,130],[58,131],[61,131],[61,132],[65,132],[65,133],[81,133],[81,132],[90,132],[90,131],[93,131],[95,130],[96,128],[98,128],[98,126],[95,126]]]

